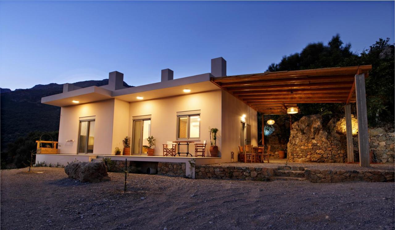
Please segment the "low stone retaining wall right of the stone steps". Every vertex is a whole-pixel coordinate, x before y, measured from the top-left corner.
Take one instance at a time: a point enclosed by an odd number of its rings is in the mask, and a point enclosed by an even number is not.
[[[305,178],[314,183],[347,181],[390,182],[394,181],[394,171],[306,169]]]

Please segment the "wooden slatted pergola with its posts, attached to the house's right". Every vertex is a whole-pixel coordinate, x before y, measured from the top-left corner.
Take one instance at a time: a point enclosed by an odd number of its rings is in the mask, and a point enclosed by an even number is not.
[[[262,114],[286,114],[297,103],[344,103],[348,161],[354,162],[351,107],[357,103],[359,159],[369,166],[365,78],[371,65],[213,77],[211,81]],[[262,133],[263,133],[262,119]]]

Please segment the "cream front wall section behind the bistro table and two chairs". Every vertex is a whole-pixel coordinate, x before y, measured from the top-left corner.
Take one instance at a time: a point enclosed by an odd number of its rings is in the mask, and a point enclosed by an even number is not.
[[[209,156],[209,127],[218,128],[217,146],[221,152],[221,90],[132,102],[129,113],[129,136],[132,137],[133,116],[151,115],[151,135],[156,139],[154,155],[163,156],[162,144],[177,139],[177,112],[190,110],[201,110],[200,140],[193,141],[203,143],[207,140],[206,156]],[[194,147],[194,143],[191,143],[189,152],[192,155],[195,154]],[[184,152],[185,148],[182,146],[181,151]]]

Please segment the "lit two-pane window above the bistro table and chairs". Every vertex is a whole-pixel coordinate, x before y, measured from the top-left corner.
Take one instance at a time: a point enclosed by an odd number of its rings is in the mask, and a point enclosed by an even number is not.
[[[199,140],[200,114],[177,116],[177,140]]]

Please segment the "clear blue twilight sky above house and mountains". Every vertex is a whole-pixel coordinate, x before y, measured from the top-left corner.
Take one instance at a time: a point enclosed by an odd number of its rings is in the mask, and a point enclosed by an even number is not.
[[[0,87],[31,88],[124,73],[134,86],[210,72],[260,73],[339,33],[354,52],[394,42],[394,1],[1,1]]]

